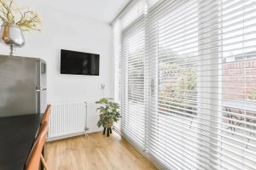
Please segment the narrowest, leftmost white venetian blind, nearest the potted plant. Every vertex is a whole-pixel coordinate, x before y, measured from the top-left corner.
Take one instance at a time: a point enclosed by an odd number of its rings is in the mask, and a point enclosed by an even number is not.
[[[138,149],[145,147],[145,3],[137,1],[121,18],[123,79],[121,133]]]

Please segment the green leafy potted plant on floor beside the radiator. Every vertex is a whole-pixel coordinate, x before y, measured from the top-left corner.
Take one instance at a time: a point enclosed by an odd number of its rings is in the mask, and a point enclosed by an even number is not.
[[[107,136],[109,136],[109,133],[112,133],[113,122],[118,122],[121,117],[119,113],[120,106],[118,103],[113,102],[111,98],[99,99],[96,104],[100,105],[96,110],[100,112],[100,120],[97,125],[98,127],[104,127],[103,134],[107,130]]]

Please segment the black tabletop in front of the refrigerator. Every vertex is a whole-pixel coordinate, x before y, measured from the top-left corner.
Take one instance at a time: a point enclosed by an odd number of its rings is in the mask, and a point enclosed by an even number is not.
[[[22,170],[30,153],[40,114],[0,117],[0,169]]]

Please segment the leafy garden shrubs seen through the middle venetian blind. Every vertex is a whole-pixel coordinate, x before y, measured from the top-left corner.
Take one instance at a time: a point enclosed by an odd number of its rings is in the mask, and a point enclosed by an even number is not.
[[[159,69],[163,81],[159,91],[163,110],[195,114],[197,86],[195,67],[160,63]]]

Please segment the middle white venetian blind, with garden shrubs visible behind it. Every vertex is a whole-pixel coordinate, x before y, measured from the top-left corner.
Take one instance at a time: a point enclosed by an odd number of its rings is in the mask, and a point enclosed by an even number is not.
[[[197,110],[198,2],[165,1],[148,13],[151,59],[148,153],[165,169],[200,169]]]

